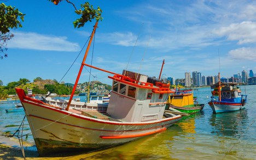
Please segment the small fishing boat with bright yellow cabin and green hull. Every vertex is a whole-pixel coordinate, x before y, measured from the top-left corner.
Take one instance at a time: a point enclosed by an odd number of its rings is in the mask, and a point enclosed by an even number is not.
[[[178,90],[168,97],[166,109],[176,109],[182,113],[196,113],[203,109],[205,104],[194,104],[193,90]]]

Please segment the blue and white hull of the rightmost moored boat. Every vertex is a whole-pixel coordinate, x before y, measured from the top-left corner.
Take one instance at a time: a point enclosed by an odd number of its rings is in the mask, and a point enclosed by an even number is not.
[[[242,105],[242,103],[210,101],[208,102],[208,104],[210,105],[214,113],[232,112],[245,108],[245,105]]]

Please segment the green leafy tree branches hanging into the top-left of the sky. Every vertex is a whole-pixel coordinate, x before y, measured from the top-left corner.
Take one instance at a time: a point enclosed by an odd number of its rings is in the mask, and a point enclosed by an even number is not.
[[[74,28],[83,27],[84,24],[88,21],[92,21],[95,19],[96,21],[102,20],[101,13],[102,10],[100,7],[94,9],[89,2],[85,2],[80,5],[80,9],[77,9],[74,3],[69,0],[48,0],[53,2],[54,4],[59,4],[62,1],[66,1],[73,5],[75,9],[75,13],[80,15],[81,17],[73,22]],[[7,41],[14,37],[14,34],[10,33],[11,29],[16,29],[18,27],[22,27],[21,21],[24,21],[25,14],[22,14],[15,7],[7,6],[4,3],[0,4],[0,58],[7,57]],[[2,56],[3,55],[3,56]]]

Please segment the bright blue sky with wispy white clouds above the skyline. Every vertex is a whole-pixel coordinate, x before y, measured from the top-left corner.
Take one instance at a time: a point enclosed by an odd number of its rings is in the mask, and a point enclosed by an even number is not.
[[[83,2],[70,1],[77,8]],[[206,77],[219,71],[221,77],[256,72],[256,1],[89,2],[102,9],[103,20],[98,22],[87,64],[159,77],[165,59],[161,76],[176,79],[193,71]],[[66,1],[4,3],[26,15],[22,28],[11,29],[15,36],[8,41],[8,58],[0,59],[3,84],[20,78],[33,82],[37,77],[74,83],[95,21],[74,28],[72,22],[79,16]],[[84,67],[79,83],[89,78],[112,83],[109,73],[91,69],[90,76],[89,71]]]

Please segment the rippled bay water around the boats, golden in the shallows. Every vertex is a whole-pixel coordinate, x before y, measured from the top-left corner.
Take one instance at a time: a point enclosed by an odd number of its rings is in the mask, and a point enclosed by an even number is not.
[[[241,86],[242,93],[245,88]],[[255,159],[256,157],[256,85],[246,86],[246,109],[230,113],[213,114],[207,104],[210,88],[194,91],[199,103],[204,103],[201,113],[184,116],[168,130],[147,136],[131,143],[94,153],[80,153],[74,159]],[[0,131],[15,132],[24,112],[5,113],[15,108],[13,103],[0,104]],[[13,127],[6,127],[15,125]],[[27,121],[25,132],[29,133]],[[32,136],[26,139],[34,143]],[[33,146],[36,150],[36,147]],[[30,152],[29,150],[26,152]],[[26,153],[25,152],[25,153]],[[93,156],[92,156],[93,155]]]

